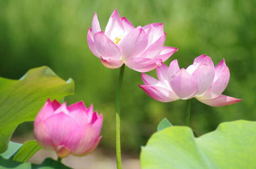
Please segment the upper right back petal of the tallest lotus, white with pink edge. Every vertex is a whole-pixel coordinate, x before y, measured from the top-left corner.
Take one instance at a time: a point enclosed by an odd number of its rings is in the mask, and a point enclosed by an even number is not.
[[[143,27],[148,32],[148,46],[159,39],[163,34],[163,23],[151,23]]]

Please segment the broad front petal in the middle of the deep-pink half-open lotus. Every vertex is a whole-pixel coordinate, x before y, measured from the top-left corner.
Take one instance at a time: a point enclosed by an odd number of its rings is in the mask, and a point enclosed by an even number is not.
[[[75,120],[63,112],[48,117],[45,119],[44,124],[55,146],[65,143],[70,133],[74,129],[79,128]]]

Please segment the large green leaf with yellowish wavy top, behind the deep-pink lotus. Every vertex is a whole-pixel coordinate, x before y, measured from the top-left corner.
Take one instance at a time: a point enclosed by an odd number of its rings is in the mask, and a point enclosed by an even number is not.
[[[16,127],[33,121],[48,98],[61,100],[73,93],[73,80],[60,79],[46,66],[29,70],[20,80],[0,78],[0,153]]]

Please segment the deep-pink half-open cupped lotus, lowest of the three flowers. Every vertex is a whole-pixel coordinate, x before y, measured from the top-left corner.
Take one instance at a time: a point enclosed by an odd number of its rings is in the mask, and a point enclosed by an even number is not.
[[[48,99],[35,118],[34,135],[43,148],[55,150],[59,157],[87,155],[98,146],[102,121],[93,105],[86,108],[78,102],[67,107]]]

